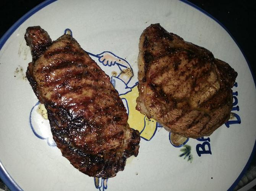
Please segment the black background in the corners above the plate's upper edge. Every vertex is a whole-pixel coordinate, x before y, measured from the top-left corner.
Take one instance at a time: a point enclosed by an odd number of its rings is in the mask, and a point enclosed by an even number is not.
[[[41,2],[43,2],[43,0],[2,0],[0,5],[0,37],[2,37],[11,25],[21,18],[21,16]],[[190,0],[190,2],[207,11],[228,29],[245,54],[245,57],[248,59],[252,72],[255,75],[255,1]]]

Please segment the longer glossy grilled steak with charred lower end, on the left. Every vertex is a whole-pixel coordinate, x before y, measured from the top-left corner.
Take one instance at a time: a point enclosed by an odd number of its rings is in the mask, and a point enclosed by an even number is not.
[[[41,27],[29,27],[25,39],[33,57],[26,75],[63,156],[89,176],[114,177],[138,155],[140,137],[109,76],[70,35],[52,43]]]

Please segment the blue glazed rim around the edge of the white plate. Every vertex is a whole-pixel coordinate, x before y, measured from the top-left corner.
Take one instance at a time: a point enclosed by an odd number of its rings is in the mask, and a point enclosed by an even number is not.
[[[18,21],[15,22],[15,24],[13,24],[10,29],[8,29],[5,34],[1,37],[0,39],[0,50],[3,48],[3,45],[5,45],[6,41],[10,38],[10,36],[13,34],[13,32],[15,32],[16,29],[18,29],[18,27],[23,24],[24,21],[26,21],[29,17],[31,17],[33,14],[37,13],[37,11],[41,10],[42,8],[44,8],[45,6],[55,2],[57,0],[45,0],[44,2],[40,3],[39,5],[35,6],[34,8],[32,8],[30,11],[28,11],[28,13],[24,14],[24,16],[22,16]],[[251,75],[253,77],[253,81],[254,81],[254,86],[256,87],[256,78],[254,76],[254,73],[252,71],[251,65],[247,59],[247,57],[245,56],[243,50],[241,49],[240,45],[238,44],[238,42],[235,40],[235,38],[233,37],[233,35],[228,31],[228,29],[220,22],[218,21],[216,18],[214,18],[214,16],[212,16],[211,14],[207,13],[206,11],[204,11],[203,9],[199,8],[198,6],[194,5],[193,3],[189,2],[188,0],[180,0],[181,2],[192,6],[193,8],[195,8],[196,10],[204,13],[206,16],[208,16],[209,18],[213,19],[215,22],[217,22],[223,29],[225,29],[225,31],[227,31],[227,33],[230,35],[230,37],[232,38],[232,40],[236,43],[236,45],[238,46],[238,48],[240,49],[243,57],[246,60],[246,63],[248,64],[248,67],[250,69]],[[249,168],[250,163],[254,157],[254,153],[256,151],[256,141],[254,142],[254,146],[253,146],[253,150],[251,152],[251,155],[245,165],[245,167],[243,168],[243,170],[241,171],[240,175],[237,177],[237,179],[235,180],[235,182],[230,186],[230,188],[228,190],[233,190],[233,188],[235,188],[235,186],[238,184],[238,182],[241,180],[241,178],[243,177],[243,175],[245,174],[246,170]],[[15,182],[15,180],[11,177],[11,175],[7,172],[7,170],[5,169],[5,167],[3,166],[1,160],[0,160],[0,178],[2,179],[2,181],[8,186],[8,188],[10,188],[11,190],[23,190],[21,187],[19,187],[19,185]]]

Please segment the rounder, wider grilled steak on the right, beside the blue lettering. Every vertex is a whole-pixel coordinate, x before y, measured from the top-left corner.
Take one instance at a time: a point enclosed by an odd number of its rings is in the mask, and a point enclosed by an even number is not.
[[[207,49],[152,24],[140,37],[138,67],[136,109],[168,131],[209,136],[229,119],[237,72]]]

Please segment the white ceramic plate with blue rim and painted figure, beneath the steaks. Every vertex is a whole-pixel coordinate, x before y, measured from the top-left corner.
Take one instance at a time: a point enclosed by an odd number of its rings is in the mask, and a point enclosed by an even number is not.
[[[154,121],[144,121],[133,107],[139,36],[152,23],[211,50],[238,72],[233,87],[234,118],[210,137],[189,139],[180,148],[170,143],[169,132]],[[48,121],[36,111],[38,100],[24,79],[31,61],[24,33],[34,25],[40,25],[53,40],[71,29],[82,48],[110,76],[124,68],[104,66],[107,60],[118,59],[133,69],[129,83],[114,76],[112,83],[123,94],[129,118],[137,116],[129,123],[143,137],[139,155],[128,159],[116,177],[102,184],[99,180],[99,186],[62,157]],[[256,89],[250,69],[228,32],[187,2],[49,0],[16,22],[1,39],[0,48],[0,177],[13,190],[227,190],[236,185],[249,164],[256,138]],[[99,60],[100,56],[106,60]]]

